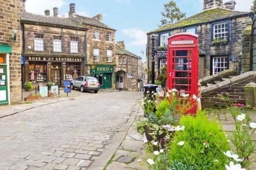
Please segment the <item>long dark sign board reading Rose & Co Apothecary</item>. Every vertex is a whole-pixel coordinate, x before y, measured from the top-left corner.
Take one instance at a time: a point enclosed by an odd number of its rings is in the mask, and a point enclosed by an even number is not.
[[[84,62],[84,57],[25,57],[26,61],[43,62]]]

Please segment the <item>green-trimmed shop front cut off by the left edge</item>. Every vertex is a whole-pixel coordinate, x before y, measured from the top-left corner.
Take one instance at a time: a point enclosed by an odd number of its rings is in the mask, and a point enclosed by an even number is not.
[[[0,45],[0,105],[10,104],[9,53],[12,46]]]

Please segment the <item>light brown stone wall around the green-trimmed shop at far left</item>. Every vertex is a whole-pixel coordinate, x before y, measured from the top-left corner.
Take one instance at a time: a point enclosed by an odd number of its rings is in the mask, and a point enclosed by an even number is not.
[[[10,103],[20,103],[22,100],[20,3],[22,1],[8,0],[1,1],[0,5],[0,44],[12,46],[9,56]],[[17,30],[16,40],[11,39],[14,30]]]

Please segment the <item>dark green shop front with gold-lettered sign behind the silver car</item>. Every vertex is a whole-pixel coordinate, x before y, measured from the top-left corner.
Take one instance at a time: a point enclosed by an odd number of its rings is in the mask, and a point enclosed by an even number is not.
[[[114,66],[109,65],[93,65],[90,74],[98,78],[102,89],[112,88]]]

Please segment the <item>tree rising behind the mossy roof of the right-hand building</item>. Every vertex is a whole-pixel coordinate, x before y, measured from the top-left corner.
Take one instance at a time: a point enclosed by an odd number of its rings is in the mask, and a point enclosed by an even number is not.
[[[176,2],[173,0],[165,3],[163,6],[165,9],[163,12],[161,12],[163,19],[160,20],[161,25],[159,25],[159,27],[173,24],[176,21],[179,21],[186,17],[186,13],[180,12],[180,9],[177,7]]]

